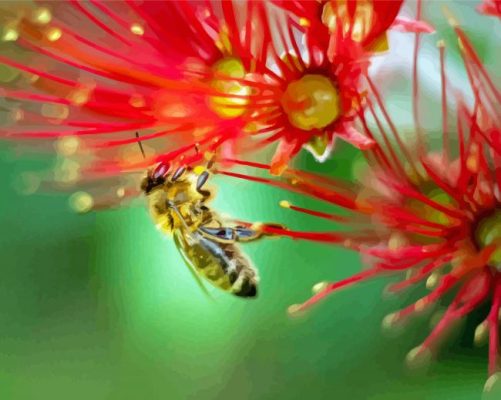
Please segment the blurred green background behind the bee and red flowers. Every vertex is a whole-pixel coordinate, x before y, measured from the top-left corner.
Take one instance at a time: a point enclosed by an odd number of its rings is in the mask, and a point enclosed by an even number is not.
[[[428,4],[427,16],[440,31],[427,42],[432,49],[438,38],[453,36],[442,2]],[[477,16],[474,5],[451,7],[483,59],[495,65],[500,23]],[[451,68],[460,70],[457,54],[449,56]],[[436,58],[431,64],[436,67]],[[400,90],[389,97],[397,111],[399,101],[409,101],[405,68],[389,85]],[[433,81],[429,86],[427,96],[436,98]],[[396,114],[405,124],[406,114]],[[75,215],[65,196],[21,195],[14,190],[20,173],[38,164],[7,146],[0,150],[0,399],[481,397],[487,350],[470,344],[481,316],[472,315],[429,368],[409,370],[405,356],[426,336],[429,318],[416,318],[401,332],[382,333],[380,326],[386,314],[417,299],[419,289],[383,299],[391,279],[375,280],[337,293],[301,318],[286,314],[315,283],[359,271],[356,254],[288,239],[248,244],[245,252],[261,276],[259,298],[212,291],[211,301],[146,208]],[[340,144],[325,165],[307,154],[298,163],[346,177],[357,157]],[[233,217],[332,228],[279,208],[284,195],[272,188],[216,183],[214,206]]]

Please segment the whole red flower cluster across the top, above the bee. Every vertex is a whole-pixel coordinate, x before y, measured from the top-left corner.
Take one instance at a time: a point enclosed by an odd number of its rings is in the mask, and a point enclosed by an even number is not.
[[[1,136],[77,137],[77,155],[93,153],[87,177],[277,141],[275,173],[302,146],[323,159],[335,136],[367,148],[351,125],[359,79],[400,4],[312,2],[304,15],[229,1],[23,8],[0,56],[24,73],[2,89],[15,123]]]

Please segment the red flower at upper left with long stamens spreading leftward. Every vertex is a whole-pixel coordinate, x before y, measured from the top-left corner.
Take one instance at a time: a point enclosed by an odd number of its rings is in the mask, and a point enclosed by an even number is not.
[[[0,135],[71,137],[77,156],[90,160],[87,178],[189,163],[239,137],[239,120],[224,117],[248,101],[240,80],[259,72],[252,52],[265,53],[250,23],[259,30],[264,16],[254,18],[253,3],[240,6],[253,16],[241,35],[232,3],[219,4],[224,18],[216,6],[71,1],[13,12],[0,62],[23,74],[0,89],[15,117]]]

